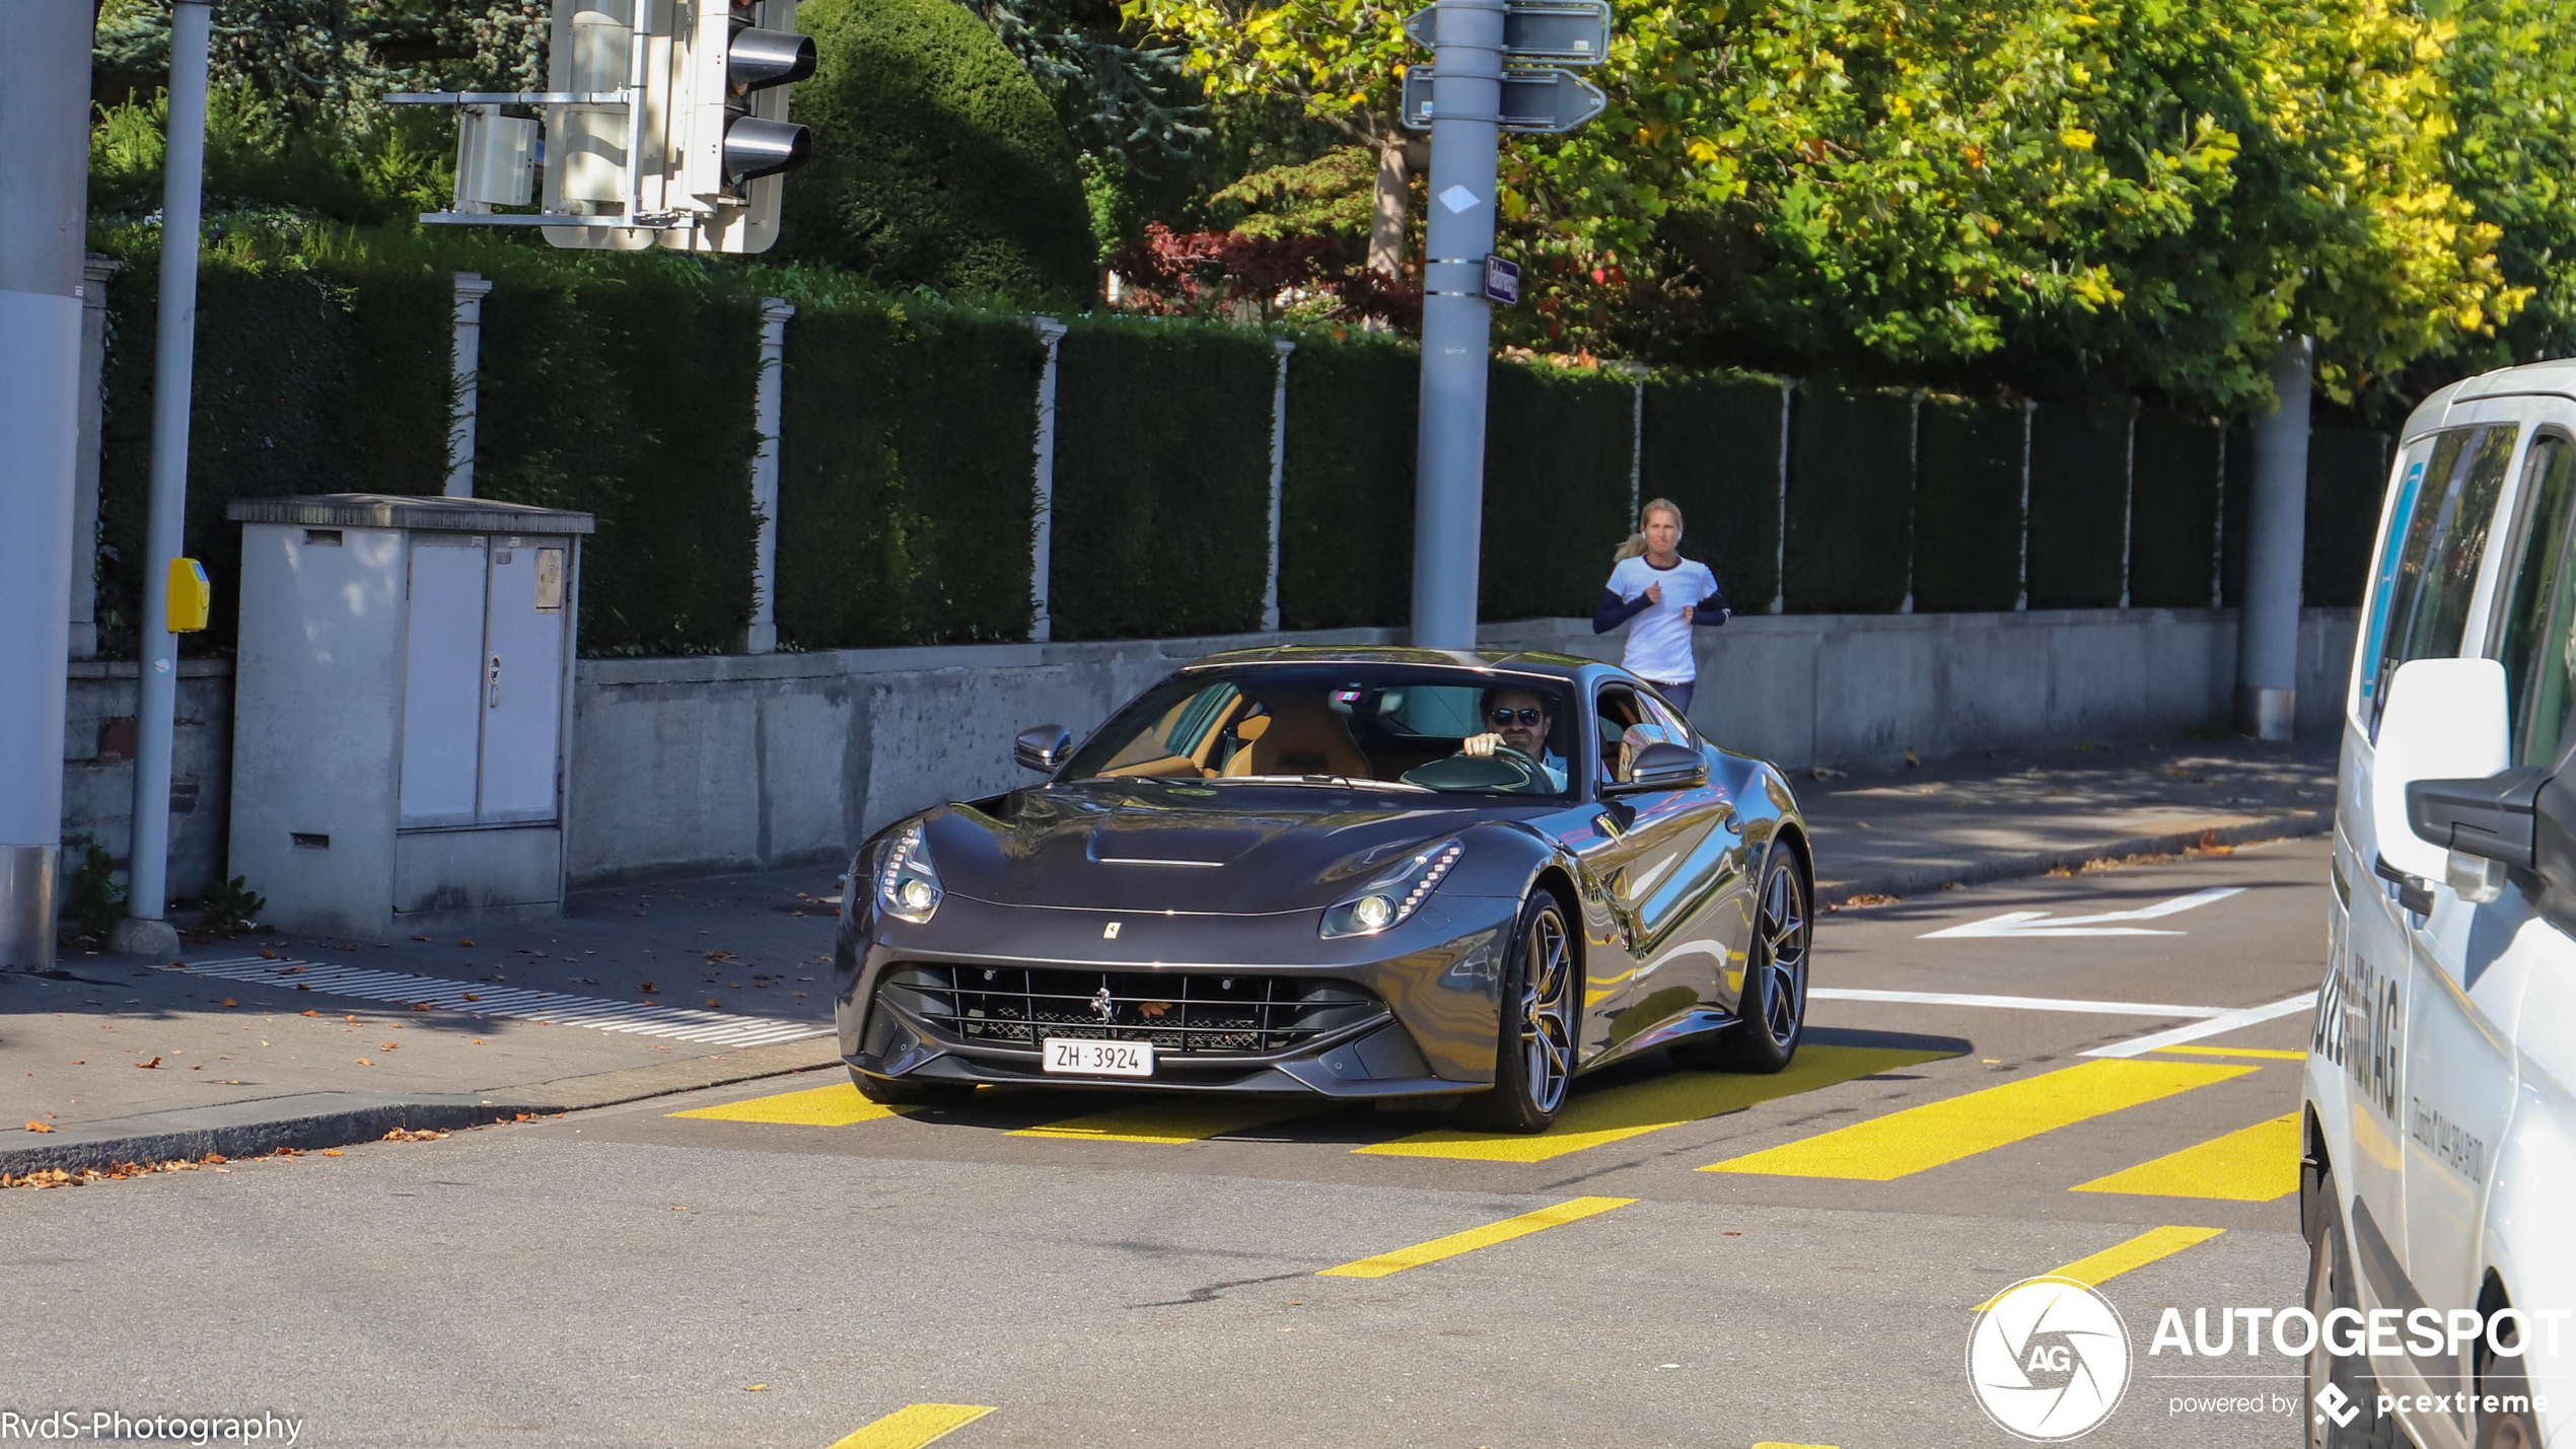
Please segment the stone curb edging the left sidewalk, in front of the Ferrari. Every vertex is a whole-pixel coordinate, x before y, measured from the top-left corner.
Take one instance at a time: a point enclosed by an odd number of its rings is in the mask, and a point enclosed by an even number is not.
[[[26,1145],[0,1148],[0,1174],[111,1168],[116,1163],[198,1161],[209,1153],[255,1158],[278,1148],[299,1153],[374,1143],[392,1130],[482,1127],[515,1114],[559,1114],[670,1096],[732,1081],[757,1081],[840,1063],[840,1037],[809,1037],[739,1053],[654,1063],[526,1086],[466,1094],[384,1096],[363,1091],[307,1091],[260,1096],[219,1107],[142,1112],[59,1127]]]

